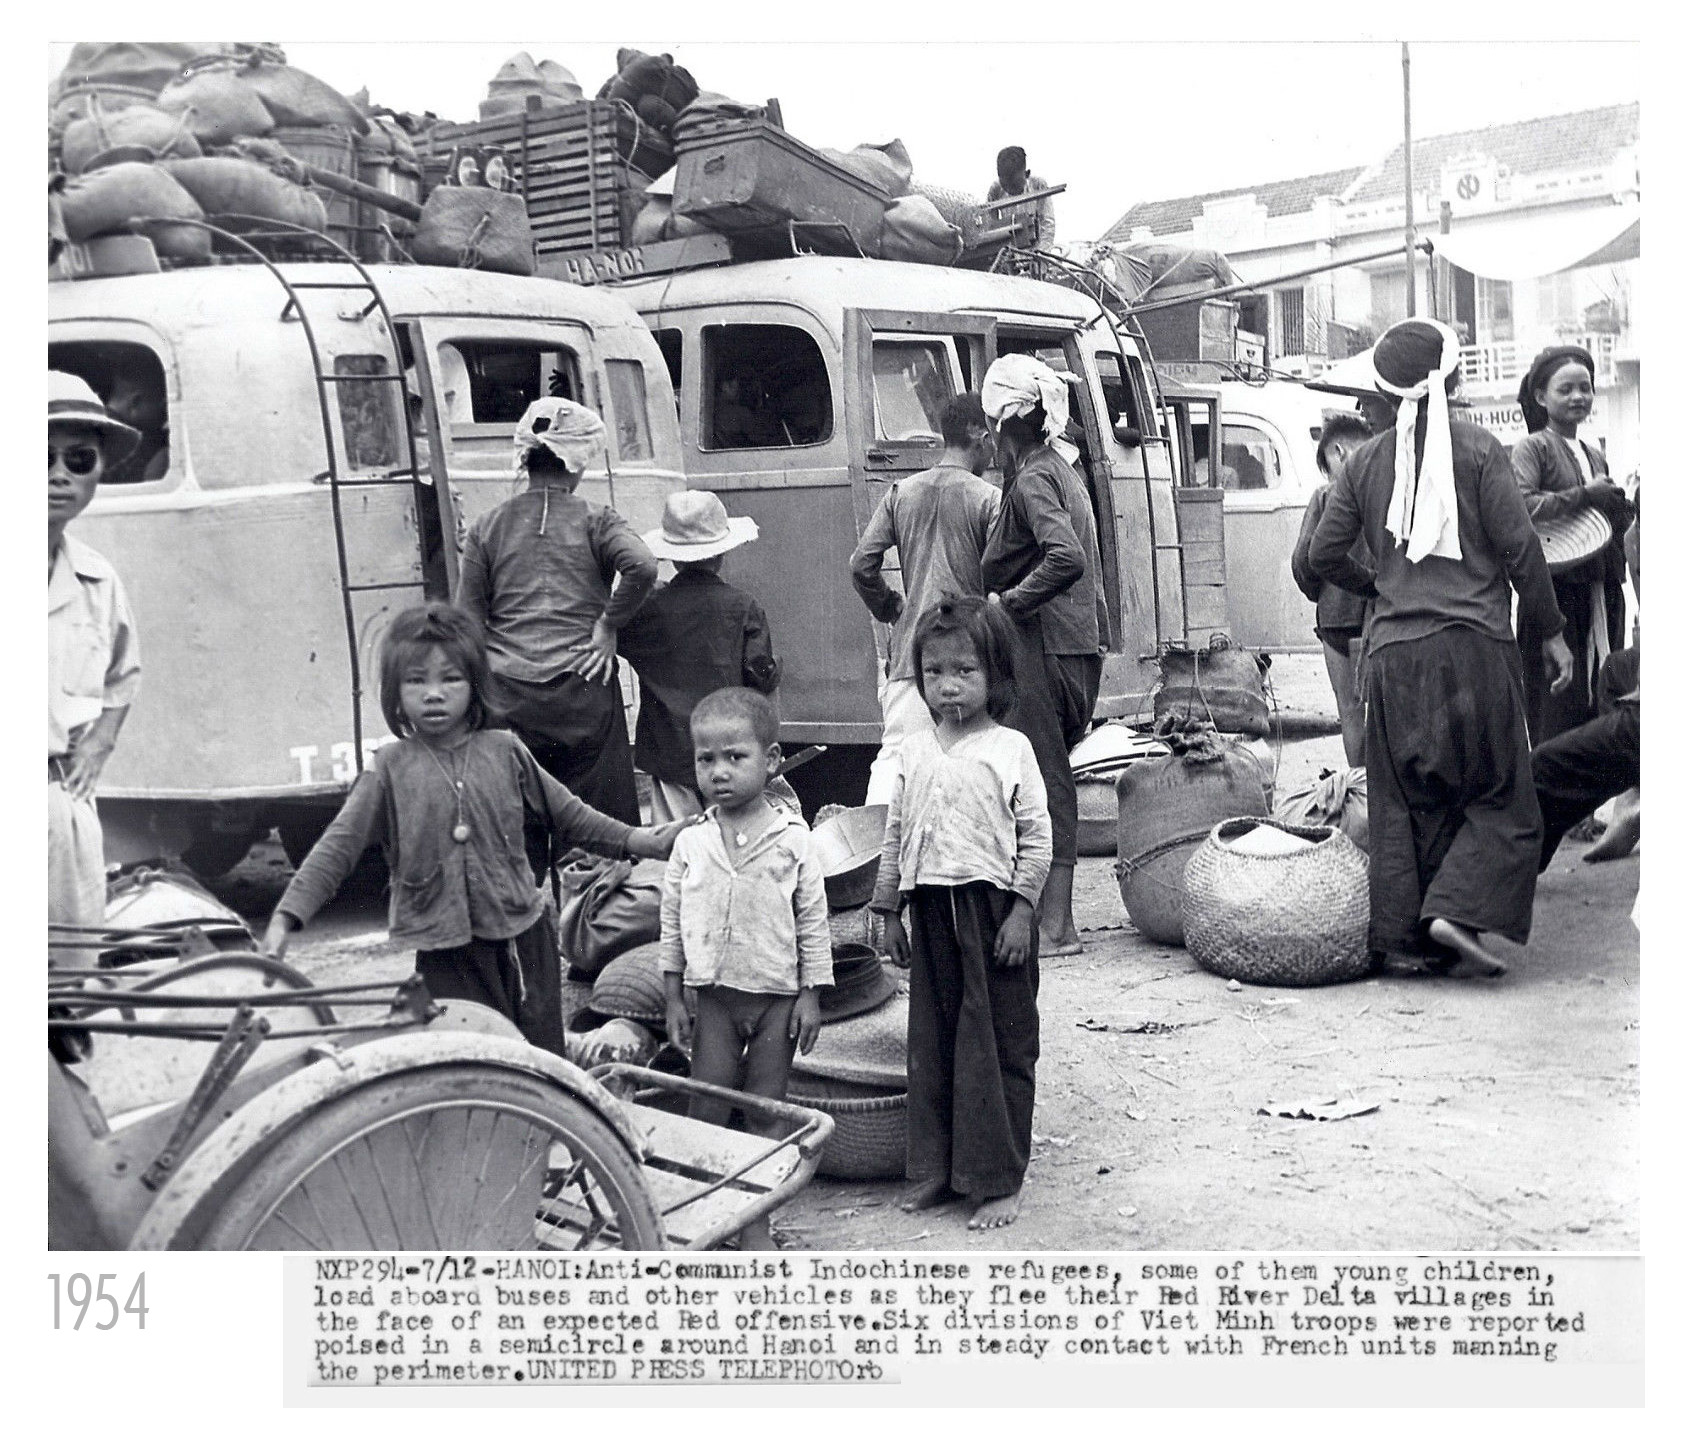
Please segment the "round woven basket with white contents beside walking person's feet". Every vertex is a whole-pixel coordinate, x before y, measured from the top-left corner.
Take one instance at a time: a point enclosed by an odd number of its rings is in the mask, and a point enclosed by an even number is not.
[[[1273,856],[1232,848],[1261,826],[1312,848]],[[1313,988],[1362,978],[1369,920],[1366,854],[1332,827],[1225,819],[1183,875],[1185,947],[1202,968],[1241,983]]]

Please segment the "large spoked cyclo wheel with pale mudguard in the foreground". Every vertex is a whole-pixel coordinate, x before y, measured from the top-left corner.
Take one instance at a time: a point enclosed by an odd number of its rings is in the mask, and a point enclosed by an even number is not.
[[[201,1248],[660,1248],[640,1165],[540,1077],[490,1064],[403,1072],[309,1114],[223,1196]]]

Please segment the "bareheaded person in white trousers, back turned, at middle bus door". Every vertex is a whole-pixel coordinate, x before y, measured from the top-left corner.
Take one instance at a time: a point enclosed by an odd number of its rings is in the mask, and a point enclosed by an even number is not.
[[[979,478],[996,453],[979,395],[955,395],[939,415],[944,453],[937,464],[891,485],[851,554],[851,583],[868,611],[891,625],[879,711],[885,729],[868,773],[869,804],[891,802],[898,750],[915,733],[932,728],[932,711],[915,682],[910,640],[915,621],[945,596],[984,594],[981,557],[991,537],[1001,493]],[[896,550],[903,593],[881,574],[885,552]]]

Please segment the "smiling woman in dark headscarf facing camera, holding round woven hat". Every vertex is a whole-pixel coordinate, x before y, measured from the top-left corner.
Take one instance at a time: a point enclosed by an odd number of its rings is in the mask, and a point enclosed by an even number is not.
[[[1624,647],[1624,530],[1629,502],[1610,481],[1605,456],[1577,437],[1593,409],[1593,356],[1577,344],[1556,344],[1536,355],[1518,387],[1529,434],[1512,446],[1512,473],[1524,508],[1536,525],[1593,508],[1612,525],[1612,540],[1572,569],[1553,576],[1553,593],[1565,615],[1565,640],[1577,672],[1563,692],[1550,692],[1539,665],[1524,665],[1524,711],[1529,736],[1546,743],[1593,718],[1595,675],[1605,657]],[[1519,615],[1518,642],[1526,657],[1541,647],[1541,633]]]

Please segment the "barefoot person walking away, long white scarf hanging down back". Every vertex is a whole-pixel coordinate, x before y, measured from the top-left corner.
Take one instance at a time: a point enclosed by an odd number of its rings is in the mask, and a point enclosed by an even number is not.
[[[1523,664],[1570,682],[1565,620],[1506,447],[1450,419],[1458,336],[1406,319],[1374,350],[1394,427],[1337,473],[1308,549],[1313,572],[1374,599],[1366,778],[1371,944],[1382,959],[1499,976],[1484,934],[1529,939],[1541,809]],[[1376,576],[1357,564],[1364,535]],[[1512,593],[1541,648],[1512,640]]]

